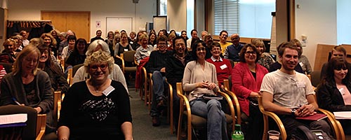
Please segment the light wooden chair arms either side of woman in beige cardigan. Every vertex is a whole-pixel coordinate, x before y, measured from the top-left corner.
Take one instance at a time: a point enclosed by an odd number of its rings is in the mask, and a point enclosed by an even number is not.
[[[180,98],[180,112],[179,112],[179,120],[178,120],[178,135],[177,139],[180,139],[180,132],[181,132],[181,124],[183,121],[183,115],[184,113],[187,114],[187,139],[191,140],[192,139],[192,113],[190,109],[190,104],[189,100],[185,95],[183,94],[183,85],[182,83],[177,83],[177,95]],[[223,96],[223,98],[228,102],[229,109],[230,109],[230,116],[232,118],[232,128],[234,128],[235,125],[235,113],[234,113],[234,106],[232,104],[232,99],[225,94],[224,92],[218,91],[218,94]],[[186,110],[186,112],[184,111]]]

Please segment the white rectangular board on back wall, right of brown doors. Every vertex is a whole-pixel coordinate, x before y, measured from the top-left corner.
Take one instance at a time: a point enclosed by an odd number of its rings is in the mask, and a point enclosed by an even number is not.
[[[106,32],[115,31],[116,29],[119,31],[126,30],[129,34],[133,31],[133,18],[107,17]]]

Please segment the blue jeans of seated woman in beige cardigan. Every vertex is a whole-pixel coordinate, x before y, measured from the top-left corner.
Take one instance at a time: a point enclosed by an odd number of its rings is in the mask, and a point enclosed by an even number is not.
[[[208,140],[228,139],[225,113],[221,110],[222,106],[218,100],[195,99],[190,102],[190,108],[192,110],[192,114],[207,119]]]

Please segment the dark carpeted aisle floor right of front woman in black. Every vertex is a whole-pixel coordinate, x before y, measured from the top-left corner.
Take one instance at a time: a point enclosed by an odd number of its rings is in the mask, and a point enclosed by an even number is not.
[[[171,134],[167,117],[161,118],[159,127],[152,126],[152,118],[149,109],[144,105],[144,101],[139,97],[139,91],[135,92],[134,85],[128,85],[131,95],[131,113],[133,118],[133,139],[177,139],[176,134]]]

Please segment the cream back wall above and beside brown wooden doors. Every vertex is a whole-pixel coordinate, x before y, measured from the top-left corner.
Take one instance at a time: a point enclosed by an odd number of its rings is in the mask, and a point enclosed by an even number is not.
[[[11,0],[8,1],[8,20],[41,20],[41,10],[91,11],[91,37],[95,31],[106,34],[106,17],[133,18],[133,30],[145,30],[145,23],[156,15],[157,0]],[[101,27],[95,27],[100,21]],[[73,29],[74,30],[74,29]],[[104,36],[104,35],[102,35]]]

